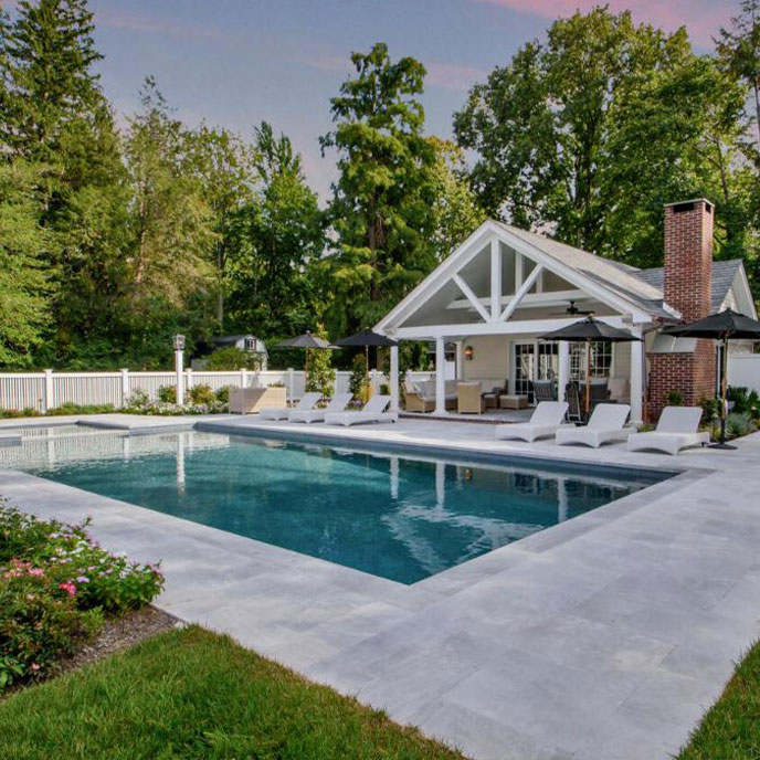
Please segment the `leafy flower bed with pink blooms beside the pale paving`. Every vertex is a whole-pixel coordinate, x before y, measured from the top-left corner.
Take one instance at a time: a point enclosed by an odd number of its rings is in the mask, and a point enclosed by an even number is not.
[[[54,672],[104,615],[142,606],[163,587],[157,564],[109,553],[85,527],[0,505],[0,692]]]

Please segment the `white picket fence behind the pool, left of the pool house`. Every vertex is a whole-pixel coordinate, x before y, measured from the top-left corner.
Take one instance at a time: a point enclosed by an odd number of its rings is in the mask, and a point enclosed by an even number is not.
[[[414,372],[414,380],[426,380],[430,372]],[[335,391],[348,391],[350,372],[336,372]],[[371,372],[376,390],[388,382],[376,370]],[[44,412],[64,403],[82,405],[112,404],[123,407],[136,392],[144,391],[152,401],[158,399],[161,386],[173,386],[175,372],[8,372],[0,373],[0,409],[35,409]],[[207,384],[213,390],[231,386],[236,388],[263,388],[282,383],[287,388],[288,399],[297,400],[304,394],[306,378],[302,370],[284,369],[267,371],[238,370],[233,372],[184,371],[184,388]]]

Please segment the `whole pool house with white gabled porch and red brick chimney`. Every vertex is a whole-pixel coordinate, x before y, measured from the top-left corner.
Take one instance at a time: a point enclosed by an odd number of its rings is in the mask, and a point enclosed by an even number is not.
[[[536,402],[537,383],[550,382],[564,397],[570,381],[585,382],[585,345],[540,336],[591,313],[642,338],[593,345],[590,378],[592,388],[601,383],[609,398],[630,402],[632,421],[640,423],[655,419],[674,391],[686,404],[715,394],[712,341],[661,330],[722,308],[757,318],[742,262],[712,261],[712,204],[696,199],[665,207],[665,266],[652,270],[488,220],[374,329],[397,340],[434,342],[434,392],[421,411],[445,415],[476,386],[478,394],[499,388],[502,405],[522,408]],[[751,344],[730,350],[751,351]],[[397,368],[394,349],[391,395],[398,409]]]

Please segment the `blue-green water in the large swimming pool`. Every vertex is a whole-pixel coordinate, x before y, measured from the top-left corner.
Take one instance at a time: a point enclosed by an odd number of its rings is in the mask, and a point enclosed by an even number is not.
[[[402,583],[668,474],[425,460],[215,433],[25,440],[8,463],[59,483]]]

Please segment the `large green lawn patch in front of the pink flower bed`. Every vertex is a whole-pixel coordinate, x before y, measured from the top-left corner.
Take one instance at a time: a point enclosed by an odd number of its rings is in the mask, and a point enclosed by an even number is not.
[[[0,703],[3,760],[462,757],[196,626]]]

